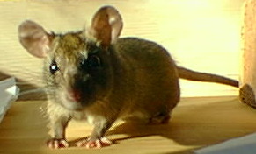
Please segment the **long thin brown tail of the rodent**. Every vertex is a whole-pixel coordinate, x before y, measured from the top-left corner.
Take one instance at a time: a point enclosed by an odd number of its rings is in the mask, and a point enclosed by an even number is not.
[[[232,80],[230,78],[226,78],[220,75],[211,74],[211,73],[199,73],[189,70],[184,67],[177,66],[179,78],[186,79],[189,81],[207,81],[207,82],[216,82],[225,85],[230,85],[238,88],[239,82],[236,80]]]

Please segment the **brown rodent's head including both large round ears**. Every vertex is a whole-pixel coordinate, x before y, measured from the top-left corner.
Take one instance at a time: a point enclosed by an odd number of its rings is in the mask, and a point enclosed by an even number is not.
[[[27,52],[45,59],[49,97],[67,109],[79,110],[103,99],[111,89],[110,51],[121,28],[119,12],[105,6],[84,31],[48,33],[29,20],[19,25],[18,31]]]

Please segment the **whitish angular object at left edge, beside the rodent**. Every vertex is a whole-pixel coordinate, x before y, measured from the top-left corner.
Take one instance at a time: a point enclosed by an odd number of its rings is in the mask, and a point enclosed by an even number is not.
[[[19,88],[16,86],[15,78],[11,77],[0,81],[0,123],[11,103],[17,100]]]

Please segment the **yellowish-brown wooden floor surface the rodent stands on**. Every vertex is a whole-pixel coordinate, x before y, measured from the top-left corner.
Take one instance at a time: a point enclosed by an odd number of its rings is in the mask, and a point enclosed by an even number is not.
[[[70,147],[48,150],[47,121],[40,113],[45,102],[14,102],[0,123],[0,153],[191,153],[210,144],[241,137],[256,131],[256,110],[238,102],[237,97],[183,98],[166,125],[115,123],[107,137],[115,144],[98,150]],[[71,122],[68,140],[86,137],[91,126]]]

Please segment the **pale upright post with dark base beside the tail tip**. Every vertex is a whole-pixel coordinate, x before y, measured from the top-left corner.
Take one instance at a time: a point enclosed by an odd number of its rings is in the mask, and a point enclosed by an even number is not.
[[[239,98],[256,108],[256,0],[244,4],[241,34],[242,62]]]

